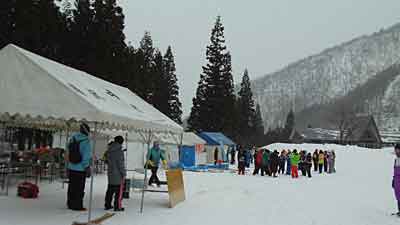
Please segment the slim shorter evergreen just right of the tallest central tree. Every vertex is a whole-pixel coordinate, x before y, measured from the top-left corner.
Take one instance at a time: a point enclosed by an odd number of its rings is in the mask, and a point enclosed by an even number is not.
[[[242,83],[240,84],[239,99],[239,130],[241,140],[245,143],[254,134],[255,109],[253,93],[251,91],[249,72],[246,69],[243,74]],[[244,143],[243,143],[244,144]]]

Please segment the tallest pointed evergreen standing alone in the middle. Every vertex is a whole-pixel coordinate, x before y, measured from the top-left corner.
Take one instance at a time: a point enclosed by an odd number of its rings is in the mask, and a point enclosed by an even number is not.
[[[208,63],[203,66],[196,97],[193,99],[189,127],[196,131],[222,131],[234,135],[235,95],[231,57],[226,51],[224,27],[217,17],[207,46]]]

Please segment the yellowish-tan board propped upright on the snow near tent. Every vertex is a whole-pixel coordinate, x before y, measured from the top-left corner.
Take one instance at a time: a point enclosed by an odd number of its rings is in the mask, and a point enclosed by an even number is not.
[[[171,169],[166,171],[169,207],[173,208],[178,203],[185,201],[185,187],[183,184],[183,174],[181,169]]]

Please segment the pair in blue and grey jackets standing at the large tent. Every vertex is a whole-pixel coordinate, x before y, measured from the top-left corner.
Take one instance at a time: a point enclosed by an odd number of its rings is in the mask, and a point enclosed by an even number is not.
[[[70,138],[67,144],[68,154],[68,193],[67,207],[74,211],[86,211],[83,206],[85,195],[86,178],[90,176],[90,164],[93,160],[91,143],[89,140],[90,127],[86,123],[80,125],[80,131]],[[71,147],[72,143],[76,143],[79,160],[74,159],[71,162],[71,155],[74,151]],[[108,144],[104,158],[107,163],[108,186],[105,194],[104,209],[114,209],[114,211],[123,211],[122,207],[122,191],[126,177],[125,158],[122,144],[124,138],[116,136],[112,142]],[[112,204],[112,200],[114,202]]]

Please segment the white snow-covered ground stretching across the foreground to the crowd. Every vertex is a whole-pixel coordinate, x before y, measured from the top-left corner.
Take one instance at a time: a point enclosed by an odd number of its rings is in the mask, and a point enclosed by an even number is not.
[[[288,148],[275,144],[271,149]],[[336,174],[313,174],[313,178],[238,176],[232,173],[185,172],[187,200],[167,208],[166,194],[146,194],[144,213],[139,213],[140,195],[131,193],[125,212],[109,225],[398,225],[390,214],[396,206],[391,189],[391,149],[299,145],[290,148],[335,149]],[[87,183],[87,187],[89,182]],[[102,215],[106,178],[95,179],[94,215]],[[0,197],[1,225],[69,225],[87,216],[66,210],[66,189],[61,184],[41,185],[40,198],[24,200]],[[88,193],[88,190],[87,192]]]

